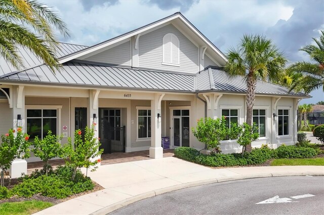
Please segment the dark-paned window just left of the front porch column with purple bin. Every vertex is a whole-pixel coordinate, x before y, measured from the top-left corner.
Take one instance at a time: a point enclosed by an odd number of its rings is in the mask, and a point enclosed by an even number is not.
[[[138,110],[138,138],[151,137],[151,110]]]

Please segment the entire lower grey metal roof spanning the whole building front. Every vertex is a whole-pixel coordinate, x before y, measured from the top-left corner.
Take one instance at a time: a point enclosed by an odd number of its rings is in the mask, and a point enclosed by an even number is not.
[[[0,76],[0,80],[183,92],[247,92],[244,77],[235,76],[229,78],[221,68],[216,67],[209,67],[204,71],[191,75],[116,67],[100,63],[98,65],[95,62],[71,61],[64,63],[60,72],[56,72],[56,74],[52,73],[50,68],[43,64],[25,71]],[[261,80],[257,81],[256,94],[309,97],[302,92],[289,92],[287,87]]]

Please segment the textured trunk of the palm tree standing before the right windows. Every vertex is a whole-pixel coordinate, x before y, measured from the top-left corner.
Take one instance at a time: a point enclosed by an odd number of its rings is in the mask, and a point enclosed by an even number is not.
[[[247,81],[247,119],[246,122],[248,125],[252,126],[252,112],[253,112],[253,105],[255,100],[255,87],[256,87],[256,80],[252,77],[252,74],[248,76]],[[251,144],[245,147],[245,151],[251,151]]]

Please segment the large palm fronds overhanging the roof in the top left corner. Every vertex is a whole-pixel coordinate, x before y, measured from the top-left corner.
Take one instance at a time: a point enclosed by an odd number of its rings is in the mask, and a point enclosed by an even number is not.
[[[60,66],[53,28],[70,35],[66,24],[47,6],[35,0],[0,1],[0,56],[16,69],[24,68],[18,48],[31,50],[54,72]]]

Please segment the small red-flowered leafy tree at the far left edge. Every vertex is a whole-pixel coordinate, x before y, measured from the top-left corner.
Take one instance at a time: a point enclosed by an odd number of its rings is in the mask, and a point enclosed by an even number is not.
[[[14,159],[29,157],[29,136],[22,131],[21,128],[15,130],[10,129],[5,135],[2,135],[2,143],[0,144],[0,168],[1,186],[5,185],[4,173],[10,168]]]

